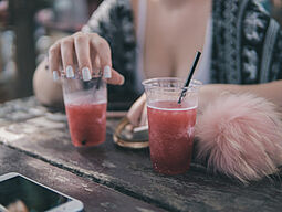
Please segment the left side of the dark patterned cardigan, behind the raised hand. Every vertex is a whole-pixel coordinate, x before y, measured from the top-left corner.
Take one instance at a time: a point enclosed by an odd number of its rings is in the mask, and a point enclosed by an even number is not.
[[[107,40],[113,67],[125,77],[123,86],[108,85],[108,102],[114,109],[127,109],[139,95],[134,89],[136,81],[136,39],[130,0],[104,0],[82,28],[83,32],[96,32]],[[117,106],[117,104],[123,106]]]

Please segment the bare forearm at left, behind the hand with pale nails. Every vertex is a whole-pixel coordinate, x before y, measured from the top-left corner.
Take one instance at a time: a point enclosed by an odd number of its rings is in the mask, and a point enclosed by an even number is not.
[[[33,76],[33,91],[38,100],[48,106],[63,105],[63,94],[60,81],[53,82],[52,74],[45,70],[44,60],[35,70]]]

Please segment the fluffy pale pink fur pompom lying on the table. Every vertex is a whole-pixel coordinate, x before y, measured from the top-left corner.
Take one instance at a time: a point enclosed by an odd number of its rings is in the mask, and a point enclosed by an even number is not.
[[[275,106],[251,94],[223,95],[198,116],[196,159],[242,182],[282,165],[282,121]]]

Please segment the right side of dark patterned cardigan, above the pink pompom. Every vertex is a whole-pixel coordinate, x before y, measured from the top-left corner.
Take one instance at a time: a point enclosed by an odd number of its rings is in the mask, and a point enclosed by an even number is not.
[[[282,30],[255,0],[213,0],[213,83],[282,80]]]

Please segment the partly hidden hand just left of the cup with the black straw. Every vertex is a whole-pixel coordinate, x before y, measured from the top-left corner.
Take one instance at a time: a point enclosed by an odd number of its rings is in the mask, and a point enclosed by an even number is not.
[[[146,95],[143,94],[130,107],[127,118],[134,127],[148,125]]]

